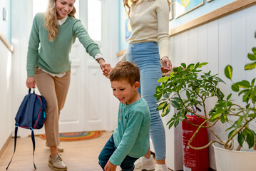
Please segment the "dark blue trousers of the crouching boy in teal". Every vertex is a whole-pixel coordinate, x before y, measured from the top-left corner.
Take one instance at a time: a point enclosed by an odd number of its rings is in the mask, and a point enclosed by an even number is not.
[[[109,138],[108,142],[106,142],[106,145],[103,147],[100,155],[98,156],[98,164],[101,165],[103,170],[109,158],[111,157],[111,155],[115,150],[116,150],[116,145],[113,140],[113,135],[111,135],[111,138]],[[122,171],[134,170],[134,162],[136,160],[138,160],[138,158],[130,157],[127,155],[120,165],[120,167],[122,168]]]

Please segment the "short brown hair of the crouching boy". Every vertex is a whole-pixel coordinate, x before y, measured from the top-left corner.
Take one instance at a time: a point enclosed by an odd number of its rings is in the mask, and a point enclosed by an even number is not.
[[[140,82],[140,69],[134,63],[118,63],[110,73],[111,81],[128,81],[131,86],[138,81]]]

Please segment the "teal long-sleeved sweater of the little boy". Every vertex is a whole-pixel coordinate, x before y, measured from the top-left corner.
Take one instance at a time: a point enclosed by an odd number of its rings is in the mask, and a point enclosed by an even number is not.
[[[113,133],[117,149],[109,159],[113,165],[121,165],[126,155],[141,157],[149,149],[150,112],[141,97],[130,105],[119,105],[118,127]]]

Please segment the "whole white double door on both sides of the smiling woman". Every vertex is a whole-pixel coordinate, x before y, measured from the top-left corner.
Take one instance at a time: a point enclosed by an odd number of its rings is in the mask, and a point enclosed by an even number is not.
[[[45,10],[43,1],[48,0],[29,0],[26,4],[18,0],[12,2],[12,39],[14,44],[14,94],[17,106],[26,95],[27,90],[24,83],[26,81],[26,51],[27,41],[32,26],[32,19],[35,10]],[[36,7],[36,3],[39,3]],[[118,58],[118,0],[76,0],[78,17],[88,30],[89,35],[98,43],[101,53],[111,66],[116,64]],[[15,4],[23,6],[21,13]],[[19,19],[21,18],[21,19]],[[24,19],[25,18],[25,19]],[[19,22],[24,21],[24,22]],[[18,28],[18,29],[14,29]],[[26,35],[19,28],[27,28]],[[23,33],[23,34],[22,34]],[[25,37],[25,39],[23,38]],[[24,43],[22,42],[24,41]],[[24,45],[24,46],[22,46]],[[108,78],[105,78],[99,68],[98,63],[86,53],[81,43],[76,40],[70,54],[71,64],[71,85],[68,96],[60,117],[60,133],[70,133],[88,130],[114,130],[116,128],[116,118],[118,111],[118,101],[113,98],[111,86]],[[21,63],[19,63],[19,61]],[[16,73],[19,73],[19,77]],[[17,76],[16,76],[17,75]],[[19,88],[18,88],[19,86]],[[17,92],[17,93],[16,93]],[[36,91],[36,93],[39,93]],[[15,113],[14,113],[15,117]],[[44,129],[36,130],[36,134],[43,134]],[[30,131],[19,130],[21,136],[30,134]]]

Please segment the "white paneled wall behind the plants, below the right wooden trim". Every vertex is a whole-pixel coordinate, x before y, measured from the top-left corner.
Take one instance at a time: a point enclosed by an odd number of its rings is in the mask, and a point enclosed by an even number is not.
[[[247,53],[251,53],[252,47],[256,46],[256,6],[237,11],[234,14],[222,17],[208,24],[190,29],[170,38],[170,57],[173,66],[180,66],[180,63],[208,62],[203,71],[218,73],[225,84],[220,88],[228,95],[232,93],[231,82],[225,78],[224,68],[227,64],[233,66],[233,81],[241,81],[256,77],[256,70],[244,71],[245,63],[248,63]],[[234,94],[234,93],[233,93]],[[236,103],[237,95],[233,95]],[[215,99],[208,101],[208,110],[213,107]],[[252,125],[254,127],[255,125]],[[227,125],[216,125],[214,130],[221,138],[227,139],[225,133]],[[168,133],[167,133],[168,134]],[[208,134],[212,140],[213,135]],[[177,150],[177,149],[176,149]],[[215,169],[213,148],[210,147],[210,167]]]

